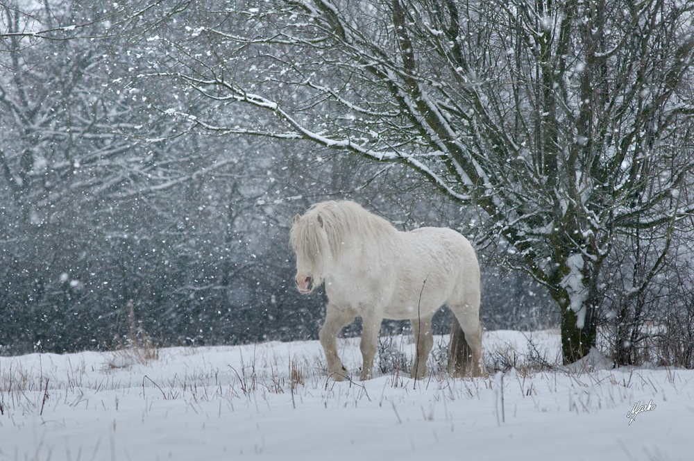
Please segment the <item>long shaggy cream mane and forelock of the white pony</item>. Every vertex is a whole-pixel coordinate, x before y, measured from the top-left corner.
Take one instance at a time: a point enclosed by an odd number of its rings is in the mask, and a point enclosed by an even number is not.
[[[347,246],[356,244],[363,248],[384,238],[391,240],[396,232],[388,221],[357,203],[325,201],[316,203],[305,215],[294,217],[289,243],[298,258],[310,262],[312,269],[322,273],[325,258],[337,262]]]

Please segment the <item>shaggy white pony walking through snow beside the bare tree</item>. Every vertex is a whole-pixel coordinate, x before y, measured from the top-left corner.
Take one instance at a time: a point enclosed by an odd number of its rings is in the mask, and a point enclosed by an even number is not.
[[[348,376],[335,336],[355,317],[363,320],[362,380],[373,376],[382,319],[412,321],[416,358],[412,378],[425,376],[434,345],[431,319],[446,304],[455,314],[448,370],[485,376],[480,327],[480,267],[470,242],[448,228],[400,232],[350,201],[316,203],[296,215],[289,242],[296,252],[296,285],[311,293],[325,281],[328,309],[319,333],[328,373]]]

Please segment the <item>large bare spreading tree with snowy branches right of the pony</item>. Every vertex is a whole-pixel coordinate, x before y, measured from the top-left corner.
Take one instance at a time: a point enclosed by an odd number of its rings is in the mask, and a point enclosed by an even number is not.
[[[226,3],[225,3],[226,5]],[[547,287],[565,362],[595,344],[604,262],[692,210],[687,2],[275,0],[180,12],[147,62],[211,104],[215,133],[402,164],[480,210],[480,244]],[[245,105],[246,115],[228,112]],[[272,115],[273,117],[268,117]],[[486,243],[485,243],[486,242]]]

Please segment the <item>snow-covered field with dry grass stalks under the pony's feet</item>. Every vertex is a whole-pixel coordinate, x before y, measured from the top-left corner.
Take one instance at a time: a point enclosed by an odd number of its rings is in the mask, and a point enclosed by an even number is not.
[[[452,380],[439,338],[416,383],[391,366],[401,337],[365,383],[326,380],[313,341],[0,357],[0,460],[694,460],[693,370],[535,372],[559,336],[532,340],[485,333],[516,368]],[[355,373],[357,340],[340,345]]]

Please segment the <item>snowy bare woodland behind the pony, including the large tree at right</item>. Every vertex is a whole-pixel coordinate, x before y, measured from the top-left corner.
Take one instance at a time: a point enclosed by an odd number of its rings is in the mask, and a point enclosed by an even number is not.
[[[486,328],[694,367],[691,3],[1,8],[3,355],[315,339],[288,229],[350,199],[473,240]]]

